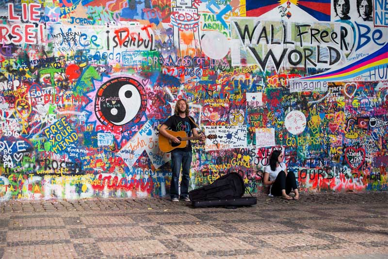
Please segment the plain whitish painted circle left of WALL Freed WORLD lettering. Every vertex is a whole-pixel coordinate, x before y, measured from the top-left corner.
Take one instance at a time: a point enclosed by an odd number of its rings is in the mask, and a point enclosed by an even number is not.
[[[201,38],[202,51],[212,59],[222,59],[229,52],[229,41],[221,32],[205,32]]]

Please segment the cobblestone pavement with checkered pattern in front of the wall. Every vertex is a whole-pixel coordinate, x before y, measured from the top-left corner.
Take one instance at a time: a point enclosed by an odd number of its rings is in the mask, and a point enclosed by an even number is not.
[[[388,193],[257,197],[1,202],[0,258],[388,258]]]

